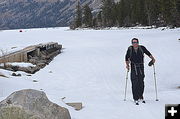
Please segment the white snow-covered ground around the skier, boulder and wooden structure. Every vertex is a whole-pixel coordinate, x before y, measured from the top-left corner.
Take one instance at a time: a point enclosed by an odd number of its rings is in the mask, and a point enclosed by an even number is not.
[[[131,39],[156,58],[158,98],[155,101],[153,68],[145,57],[146,104],[134,105],[128,79],[127,101],[124,99],[124,56]],[[0,48],[11,50],[46,42],[63,45],[63,53],[32,76],[0,77],[0,100],[20,89],[42,89],[48,98],[69,109],[72,119],[164,119],[165,104],[180,103],[180,29],[112,29],[75,30],[68,28],[27,29],[0,32]],[[38,82],[33,82],[37,80]],[[82,102],[75,111],[65,102]]]

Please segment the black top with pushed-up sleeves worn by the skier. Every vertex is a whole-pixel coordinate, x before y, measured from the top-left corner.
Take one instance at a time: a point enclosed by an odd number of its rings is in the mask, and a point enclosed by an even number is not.
[[[135,52],[135,49],[133,46],[129,46],[125,60],[131,61],[131,63],[144,63],[144,53],[148,56],[151,55],[151,53],[142,45],[139,45],[137,53]]]

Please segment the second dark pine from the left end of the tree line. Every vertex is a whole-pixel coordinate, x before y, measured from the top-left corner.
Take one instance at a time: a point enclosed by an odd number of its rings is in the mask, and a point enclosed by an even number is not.
[[[89,8],[88,4],[84,6],[83,12],[83,23],[85,27],[92,27],[92,13],[91,9]]]

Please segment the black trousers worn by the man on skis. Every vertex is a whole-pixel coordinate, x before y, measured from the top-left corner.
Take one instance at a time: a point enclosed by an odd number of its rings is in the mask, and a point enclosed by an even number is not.
[[[144,64],[131,64],[131,82],[134,100],[143,98],[144,77]]]

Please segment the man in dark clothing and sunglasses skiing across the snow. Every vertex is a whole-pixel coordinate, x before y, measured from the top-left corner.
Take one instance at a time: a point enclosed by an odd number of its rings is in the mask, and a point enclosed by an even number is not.
[[[152,54],[142,45],[139,45],[139,40],[133,38],[132,45],[128,47],[125,55],[126,68],[129,71],[131,68],[131,83],[133,99],[136,105],[139,101],[145,103],[143,98],[144,93],[144,53],[151,58],[150,65],[155,63],[155,58]]]

